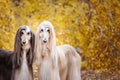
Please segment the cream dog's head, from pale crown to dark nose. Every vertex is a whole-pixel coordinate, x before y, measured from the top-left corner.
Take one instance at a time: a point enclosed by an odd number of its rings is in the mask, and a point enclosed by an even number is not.
[[[55,31],[53,25],[49,21],[43,21],[38,27],[38,36],[42,43],[51,43],[55,41]]]

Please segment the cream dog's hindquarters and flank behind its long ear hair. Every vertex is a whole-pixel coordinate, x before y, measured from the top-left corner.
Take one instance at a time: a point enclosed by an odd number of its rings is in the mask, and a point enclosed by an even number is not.
[[[60,80],[81,80],[81,57],[70,45],[57,47]]]

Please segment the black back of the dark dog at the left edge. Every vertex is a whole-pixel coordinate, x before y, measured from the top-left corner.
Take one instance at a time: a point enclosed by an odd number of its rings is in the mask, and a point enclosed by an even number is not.
[[[11,80],[12,51],[0,49],[0,80]]]

